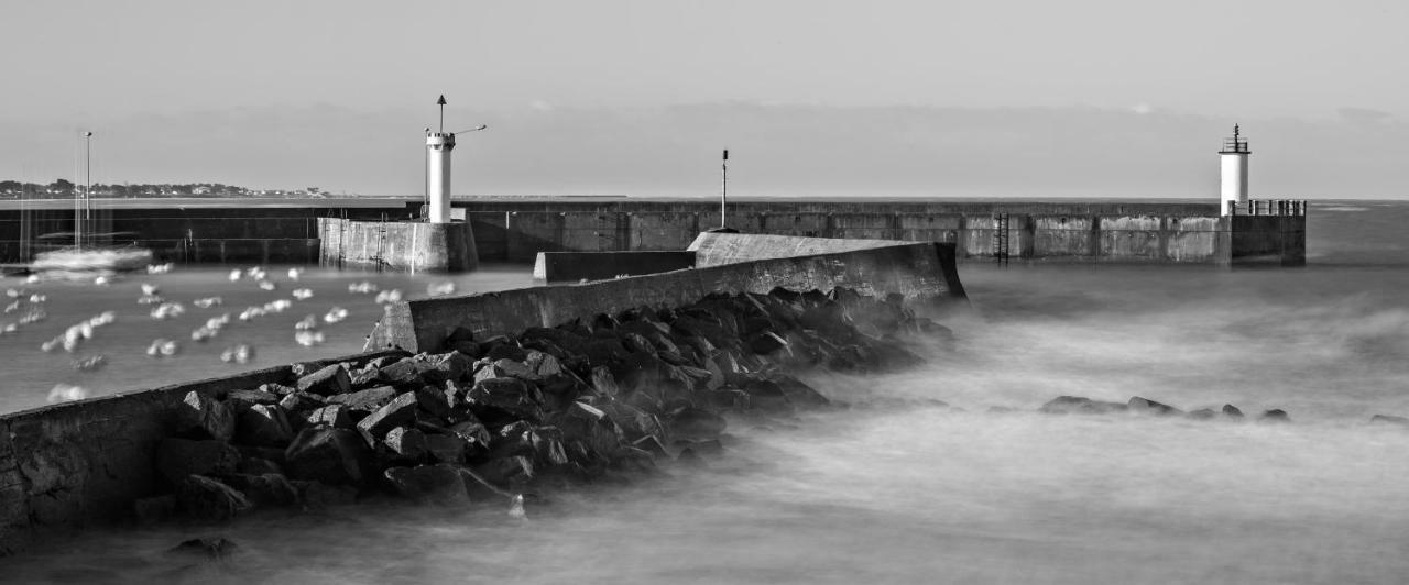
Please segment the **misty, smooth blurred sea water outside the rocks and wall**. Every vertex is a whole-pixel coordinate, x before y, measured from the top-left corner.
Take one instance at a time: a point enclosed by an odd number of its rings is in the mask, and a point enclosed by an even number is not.
[[[1313,207],[1310,266],[1293,270],[964,264],[978,315],[950,323],[952,352],[921,347],[926,368],[813,378],[851,408],[771,430],[735,422],[707,468],[562,495],[528,522],[492,502],[90,532],[0,570],[38,582],[1402,582],[1409,430],[1367,419],[1409,415],[1403,221],[1406,204]],[[1062,394],[1282,408],[1293,423],[988,412]],[[213,533],[242,553],[186,572],[161,554]]]

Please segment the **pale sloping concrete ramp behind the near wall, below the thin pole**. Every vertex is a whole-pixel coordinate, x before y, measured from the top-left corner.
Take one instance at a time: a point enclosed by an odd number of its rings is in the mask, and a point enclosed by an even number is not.
[[[769,260],[778,257],[833,255],[838,252],[868,250],[872,248],[902,246],[914,242],[893,239],[843,239],[778,236],[768,233],[717,233],[703,232],[688,248],[695,252],[695,266],[737,264],[740,262]]]

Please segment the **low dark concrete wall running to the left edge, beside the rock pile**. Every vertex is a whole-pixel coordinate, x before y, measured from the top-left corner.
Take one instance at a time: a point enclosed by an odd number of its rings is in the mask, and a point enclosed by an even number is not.
[[[156,443],[170,436],[170,413],[187,392],[218,397],[293,378],[280,366],[0,416],[0,554],[23,547],[35,529],[130,518],[134,499],[155,494]]]

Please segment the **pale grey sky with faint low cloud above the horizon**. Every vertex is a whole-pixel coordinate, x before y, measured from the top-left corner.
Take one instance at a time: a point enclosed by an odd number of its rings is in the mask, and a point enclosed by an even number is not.
[[[1409,3],[0,0],[0,177],[418,194],[1406,197]]]

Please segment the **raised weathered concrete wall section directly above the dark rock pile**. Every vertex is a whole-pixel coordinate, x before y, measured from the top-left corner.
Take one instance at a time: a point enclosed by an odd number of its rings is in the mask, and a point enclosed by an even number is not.
[[[848,287],[868,295],[900,294],[924,308],[965,300],[954,266],[954,246],[902,243],[816,256],[752,260],[671,273],[548,285],[465,297],[427,298],[389,305],[372,332],[371,347],[437,352],[458,328],[476,339],[533,326],[555,326],[596,314],[643,305],[679,307],[710,292],[768,292],[775,287]]]

